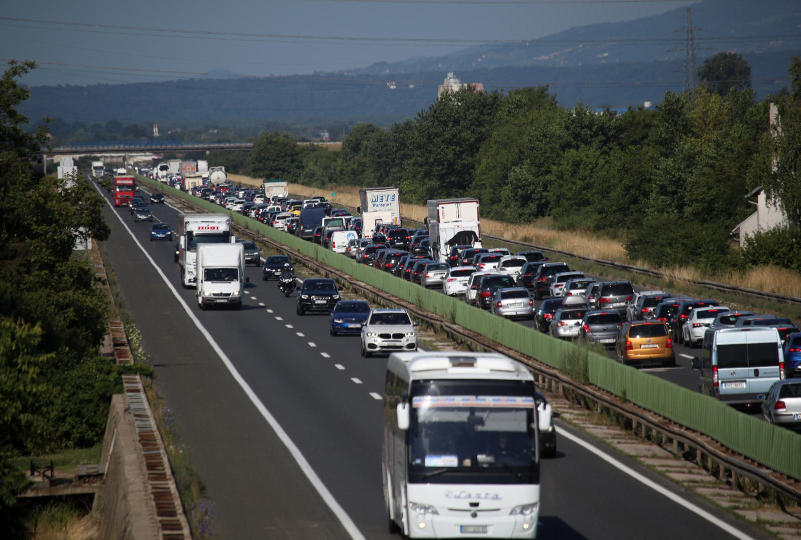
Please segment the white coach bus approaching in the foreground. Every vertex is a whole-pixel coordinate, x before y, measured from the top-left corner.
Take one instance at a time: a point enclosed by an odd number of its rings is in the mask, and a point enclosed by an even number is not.
[[[535,538],[537,427],[533,377],[519,362],[493,353],[392,353],[382,460],[390,530]]]

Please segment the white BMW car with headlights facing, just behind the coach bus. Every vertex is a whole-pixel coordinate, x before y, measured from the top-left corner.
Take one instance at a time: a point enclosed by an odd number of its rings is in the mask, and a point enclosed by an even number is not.
[[[361,328],[361,356],[417,350],[417,324],[405,309],[371,309]]]

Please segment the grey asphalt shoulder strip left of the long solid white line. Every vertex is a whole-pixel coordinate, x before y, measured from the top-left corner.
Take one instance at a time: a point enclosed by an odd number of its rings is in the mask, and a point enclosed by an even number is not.
[[[112,235],[105,243],[108,262],[213,501],[215,532],[221,538],[347,538],[111,209],[104,212]]]

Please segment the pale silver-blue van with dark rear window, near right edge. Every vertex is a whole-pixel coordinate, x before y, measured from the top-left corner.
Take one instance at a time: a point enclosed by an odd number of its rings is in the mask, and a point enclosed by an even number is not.
[[[729,405],[757,405],[784,378],[784,356],[775,328],[708,329],[702,356],[693,358],[700,372],[698,389]]]

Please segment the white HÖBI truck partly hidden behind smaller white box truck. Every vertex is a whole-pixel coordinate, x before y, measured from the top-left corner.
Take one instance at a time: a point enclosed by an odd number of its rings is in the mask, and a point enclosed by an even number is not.
[[[184,288],[195,287],[198,244],[231,244],[231,217],[225,214],[180,214],[178,216],[178,265]]]

